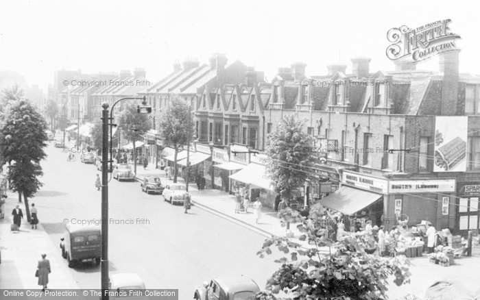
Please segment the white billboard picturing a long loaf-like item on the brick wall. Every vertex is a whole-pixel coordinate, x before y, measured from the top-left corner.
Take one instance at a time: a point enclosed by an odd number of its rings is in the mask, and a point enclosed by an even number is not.
[[[464,172],[467,167],[467,116],[435,117],[433,172]]]

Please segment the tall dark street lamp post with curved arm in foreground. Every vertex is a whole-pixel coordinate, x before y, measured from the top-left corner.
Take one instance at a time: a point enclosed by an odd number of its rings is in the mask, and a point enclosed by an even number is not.
[[[126,97],[117,100],[113,103],[112,108],[110,109],[110,116],[108,116],[108,102],[101,104],[101,299],[108,300],[108,162],[112,166],[112,122],[110,124],[108,121],[111,121],[113,108],[115,105],[122,100],[127,99],[141,99],[142,105],[146,105],[145,97]],[[139,113],[149,113],[151,108],[148,110],[141,110],[139,107]],[[110,147],[108,145],[108,126],[110,125]],[[109,151],[107,151],[107,149]],[[110,160],[108,160],[108,153],[110,153]]]

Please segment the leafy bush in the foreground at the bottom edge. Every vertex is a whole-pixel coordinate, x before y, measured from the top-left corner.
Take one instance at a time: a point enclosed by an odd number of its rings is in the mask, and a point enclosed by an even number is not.
[[[272,254],[272,248],[285,256],[275,260],[280,268],[256,299],[387,299],[389,277],[393,275],[398,286],[409,283],[410,263],[404,255],[382,258],[365,253],[368,240],[359,234],[333,242],[328,237],[331,216],[315,204],[307,218],[300,217],[299,242],[275,236],[265,240],[257,253],[261,258]],[[287,298],[277,298],[280,292]]]

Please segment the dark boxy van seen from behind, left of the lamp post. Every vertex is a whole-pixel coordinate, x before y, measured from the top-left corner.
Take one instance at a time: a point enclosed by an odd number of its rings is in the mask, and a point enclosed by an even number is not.
[[[66,225],[64,237],[60,239],[62,257],[67,258],[69,267],[79,262],[101,262],[101,231],[97,226]]]

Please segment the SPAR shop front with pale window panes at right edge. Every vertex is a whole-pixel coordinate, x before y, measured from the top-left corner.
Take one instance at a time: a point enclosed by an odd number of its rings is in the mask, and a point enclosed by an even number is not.
[[[459,183],[457,195],[456,225],[462,236],[472,230],[476,234],[480,229],[480,184],[479,182]]]

